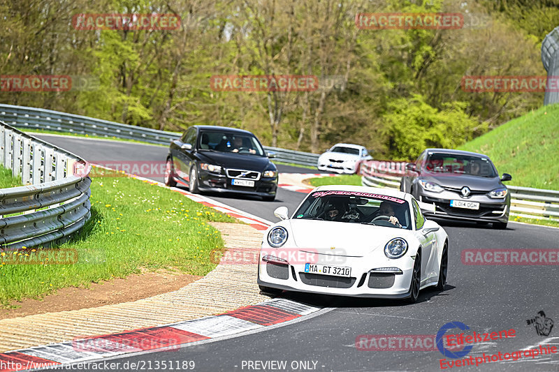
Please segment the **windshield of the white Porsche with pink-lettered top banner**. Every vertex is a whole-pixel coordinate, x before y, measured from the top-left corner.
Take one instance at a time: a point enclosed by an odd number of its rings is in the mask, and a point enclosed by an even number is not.
[[[358,191],[314,192],[305,199],[293,218],[412,230],[409,205],[405,200]]]

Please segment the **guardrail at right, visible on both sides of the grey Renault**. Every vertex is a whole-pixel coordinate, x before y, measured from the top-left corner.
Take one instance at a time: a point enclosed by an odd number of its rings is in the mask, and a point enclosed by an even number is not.
[[[367,161],[361,164],[361,184],[400,188],[406,162]],[[559,221],[559,191],[507,186],[511,192],[511,216]]]

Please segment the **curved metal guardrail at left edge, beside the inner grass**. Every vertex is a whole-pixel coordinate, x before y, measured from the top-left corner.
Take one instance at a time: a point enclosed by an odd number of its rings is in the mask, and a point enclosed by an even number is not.
[[[0,164],[27,185],[0,189],[0,251],[61,244],[91,216],[82,158],[0,121]]]

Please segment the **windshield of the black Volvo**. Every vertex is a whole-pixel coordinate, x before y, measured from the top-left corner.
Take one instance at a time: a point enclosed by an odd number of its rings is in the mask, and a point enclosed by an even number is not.
[[[256,137],[245,133],[204,131],[198,135],[198,149],[264,156]]]

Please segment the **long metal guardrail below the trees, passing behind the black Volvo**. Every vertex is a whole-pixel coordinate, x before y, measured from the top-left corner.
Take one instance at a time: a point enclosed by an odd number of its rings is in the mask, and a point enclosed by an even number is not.
[[[130,126],[92,117],[66,114],[66,112],[44,110],[36,107],[0,104],[0,120],[15,128],[55,131],[98,137],[115,137],[168,146],[182,133],[158,131],[157,129]],[[318,154],[264,146],[266,151],[276,154],[275,160],[285,163],[316,167]]]

